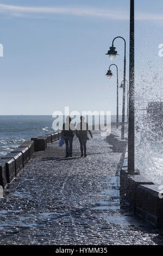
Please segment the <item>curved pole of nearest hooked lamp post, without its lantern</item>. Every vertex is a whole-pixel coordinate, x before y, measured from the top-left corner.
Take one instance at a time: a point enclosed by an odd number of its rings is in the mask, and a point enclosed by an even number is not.
[[[121,129],[121,139],[124,139],[124,121],[125,121],[125,97],[126,97],[126,40],[122,36],[117,36],[112,41],[112,46],[114,46],[114,41],[117,38],[124,40],[124,73],[123,73],[123,105],[122,105],[122,129]]]

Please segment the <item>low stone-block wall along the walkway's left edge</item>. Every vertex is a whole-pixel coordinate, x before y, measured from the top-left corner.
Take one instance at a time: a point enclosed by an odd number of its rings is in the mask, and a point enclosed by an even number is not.
[[[0,159],[0,186],[7,187],[21,172],[32,157],[34,151],[46,150],[48,143],[61,138],[61,132],[47,134],[24,141],[19,147]]]

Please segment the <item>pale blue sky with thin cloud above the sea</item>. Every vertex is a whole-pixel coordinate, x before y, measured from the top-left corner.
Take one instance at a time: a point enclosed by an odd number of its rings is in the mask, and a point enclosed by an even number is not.
[[[121,84],[123,41],[115,41],[120,55],[114,62],[105,53],[115,36],[126,39],[128,80],[129,5],[129,0],[0,0],[0,114],[52,115],[64,113],[65,106],[116,114],[116,70],[111,80],[105,74],[110,64],[118,65]],[[135,90],[145,97],[154,95],[158,80],[163,94],[162,25],[162,0],[135,1]],[[121,102],[120,89],[120,113]]]

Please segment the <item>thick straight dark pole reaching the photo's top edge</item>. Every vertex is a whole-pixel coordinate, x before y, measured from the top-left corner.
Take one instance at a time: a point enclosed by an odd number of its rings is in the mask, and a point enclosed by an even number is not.
[[[135,172],[135,116],[134,116],[134,0],[130,0],[130,63],[129,63],[129,125],[128,173]]]

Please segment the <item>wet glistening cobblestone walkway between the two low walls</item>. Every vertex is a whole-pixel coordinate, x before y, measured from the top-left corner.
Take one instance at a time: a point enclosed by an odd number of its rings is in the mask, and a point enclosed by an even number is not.
[[[163,236],[120,204],[121,154],[99,132],[81,158],[48,144],[0,199],[2,245],[163,245]]]

